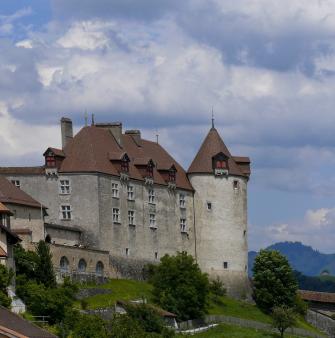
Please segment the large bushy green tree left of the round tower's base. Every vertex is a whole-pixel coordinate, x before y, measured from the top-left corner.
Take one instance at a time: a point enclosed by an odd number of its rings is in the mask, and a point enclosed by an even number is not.
[[[180,320],[201,318],[206,312],[209,281],[191,255],[165,255],[152,271],[154,301]]]

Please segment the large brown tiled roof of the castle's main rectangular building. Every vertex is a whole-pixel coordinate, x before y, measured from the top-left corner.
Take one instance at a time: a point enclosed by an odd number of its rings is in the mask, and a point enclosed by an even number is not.
[[[157,165],[171,167],[174,164],[177,169],[177,187],[193,190],[185,170],[161,145],[143,139],[135,142],[130,134],[122,134],[121,145],[122,147],[108,129],[95,126],[84,127],[65,147],[66,157],[59,171],[63,173],[100,172],[119,176],[120,173],[111,160],[119,160],[126,153],[130,158],[130,178],[143,181],[144,178],[136,165],[152,159],[155,163],[154,182],[156,184],[167,185],[157,170]]]

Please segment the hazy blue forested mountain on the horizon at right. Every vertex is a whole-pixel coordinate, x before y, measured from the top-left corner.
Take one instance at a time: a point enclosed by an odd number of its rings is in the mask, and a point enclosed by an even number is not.
[[[335,275],[335,254],[323,254],[300,242],[280,242],[267,249],[278,250],[287,257],[292,268],[307,276],[317,276],[324,270]],[[249,275],[257,252],[249,251]]]

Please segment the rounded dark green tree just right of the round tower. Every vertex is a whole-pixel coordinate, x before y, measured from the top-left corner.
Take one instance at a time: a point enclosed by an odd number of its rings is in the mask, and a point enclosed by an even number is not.
[[[294,306],[298,284],[288,260],[279,251],[261,250],[253,273],[254,299],[260,309],[270,313],[275,306]]]

